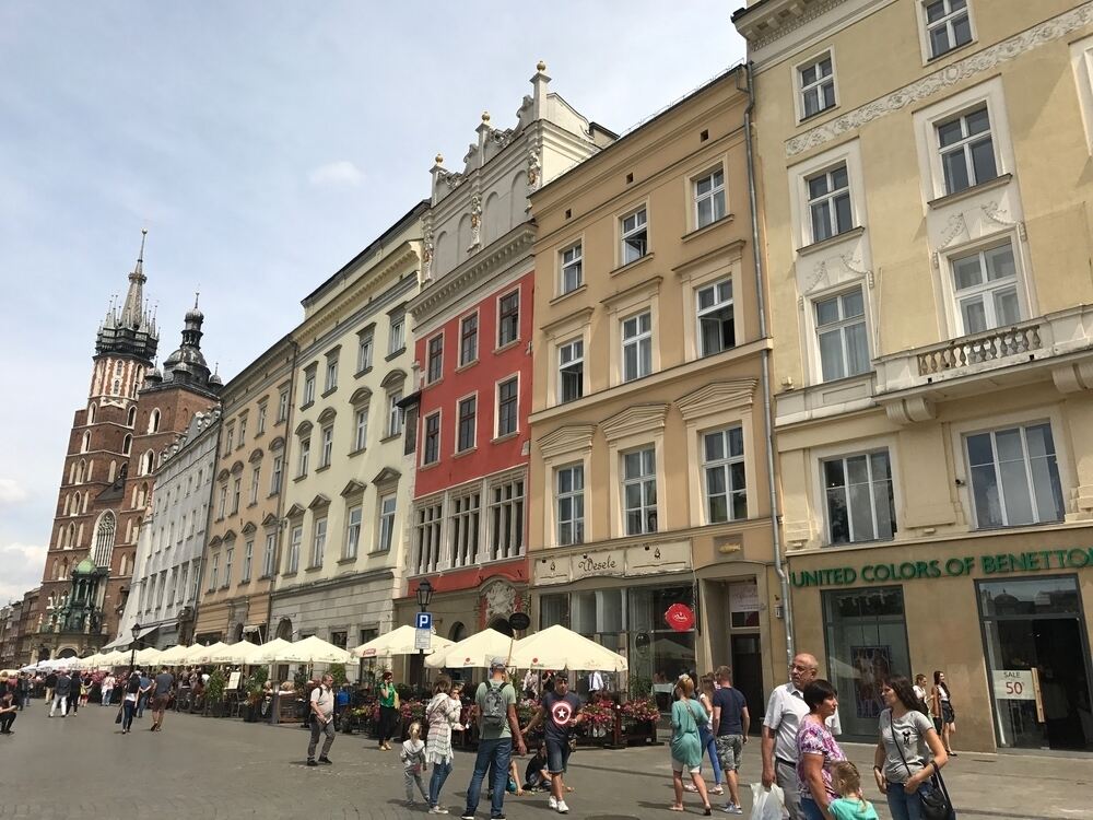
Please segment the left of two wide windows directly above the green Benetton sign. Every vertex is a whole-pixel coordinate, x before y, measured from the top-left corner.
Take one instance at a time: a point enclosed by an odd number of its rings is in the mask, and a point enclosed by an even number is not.
[[[855,543],[896,532],[888,450],[823,462],[827,493],[827,542]]]

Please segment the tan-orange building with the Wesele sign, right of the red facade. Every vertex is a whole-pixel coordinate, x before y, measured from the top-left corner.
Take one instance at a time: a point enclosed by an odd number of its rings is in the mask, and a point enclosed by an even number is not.
[[[680,672],[731,664],[760,712],[785,657],[743,80],[531,197],[532,617],[626,655],[609,688],[665,707]]]

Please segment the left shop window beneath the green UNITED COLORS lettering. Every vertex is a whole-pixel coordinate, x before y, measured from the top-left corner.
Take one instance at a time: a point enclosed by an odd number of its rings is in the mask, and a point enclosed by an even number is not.
[[[875,739],[884,707],[881,681],[912,675],[903,588],[872,587],[823,595],[827,677],[838,691],[844,735]]]

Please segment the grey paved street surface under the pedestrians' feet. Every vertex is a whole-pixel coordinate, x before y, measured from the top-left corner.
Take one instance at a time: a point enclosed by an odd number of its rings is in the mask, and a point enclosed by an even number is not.
[[[169,714],[161,734],[150,713],[121,736],[114,710],[89,706],[75,717],[48,719],[40,701],[20,714],[15,734],[0,738],[0,818],[37,820],[154,818],[413,818],[421,804],[402,803],[396,752],[360,735],[339,735],[332,766],[304,765],[307,736],[298,728],[249,725]],[[846,745],[868,771],[871,749]],[[396,747],[397,749],[397,747]],[[521,761],[524,769],[526,759]],[[473,758],[457,754],[444,804],[458,817]],[[1089,818],[1093,763],[1088,759],[961,754],[945,770],[961,817],[1008,820]],[[744,752],[744,784],[759,775],[759,745]],[[571,761],[571,817],[630,820],[668,817],[667,750],[580,750]],[[744,806],[750,792],[744,786]],[[869,795],[874,799],[877,795]],[[686,797],[689,812],[701,815]],[[877,804],[882,818],[886,807]],[[514,820],[550,816],[542,795],[509,796]],[[719,813],[719,812],[715,812]],[[489,817],[483,799],[479,817]],[[744,815],[747,817],[747,812]]]

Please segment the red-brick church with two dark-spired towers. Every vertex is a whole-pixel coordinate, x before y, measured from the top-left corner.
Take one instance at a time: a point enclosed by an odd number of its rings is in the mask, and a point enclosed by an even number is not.
[[[158,329],[144,301],[143,267],[142,238],[125,303],[111,305],[99,325],[87,403],[69,434],[38,596],[39,659],[86,655],[117,634],[160,453],[193,413],[218,401],[196,304],[181,345],[163,373],[154,367]]]

